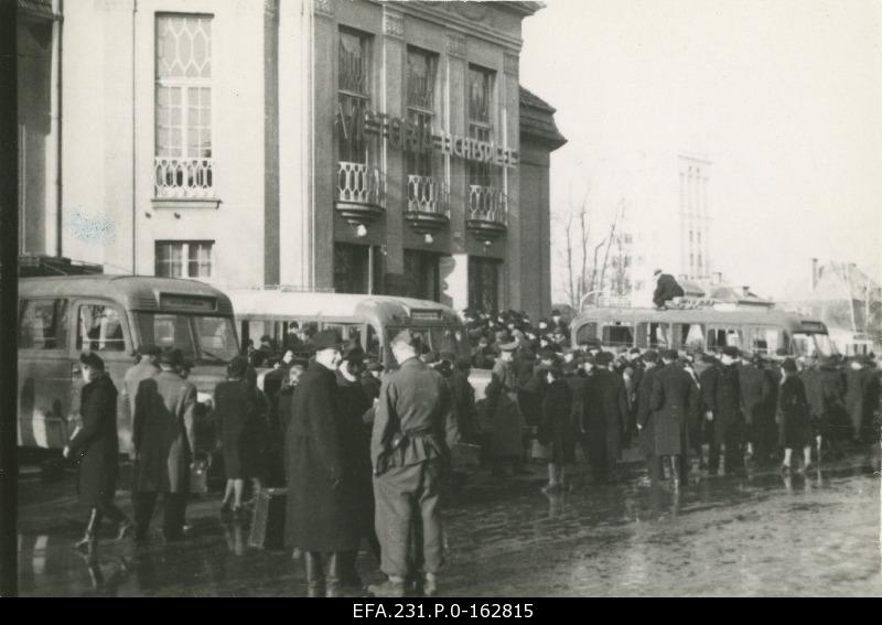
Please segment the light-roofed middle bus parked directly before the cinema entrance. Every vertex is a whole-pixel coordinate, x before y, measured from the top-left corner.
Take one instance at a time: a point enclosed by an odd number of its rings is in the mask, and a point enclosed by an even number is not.
[[[435,352],[471,356],[469,336],[453,309],[428,300],[390,295],[294,292],[283,289],[230,289],[227,294],[236,311],[236,323],[243,346],[255,347],[269,336],[272,349],[281,355],[293,348],[308,355],[302,342],[306,332],[333,328],[344,342],[356,342],[384,365],[394,363],[389,342],[405,327],[422,334],[424,343]],[[309,331],[308,331],[309,328]],[[301,337],[295,338],[300,333]],[[308,341],[306,341],[308,342]],[[258,385],[262,376],[258,371]],[[474,386],[478,395],[486,381],[477,374]],[[481,378],[480,380],[477,378]]]

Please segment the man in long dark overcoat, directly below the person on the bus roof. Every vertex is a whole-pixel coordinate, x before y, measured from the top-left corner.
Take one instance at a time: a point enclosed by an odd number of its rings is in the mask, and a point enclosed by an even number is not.
[[[699,409],[698,385],[678,364],[678,355],[668,349],[662,356],[665,365],[653,379],[652,409],[654,453],[670,459],[674,485],[687,478],[688,427]],[[659,462],[656,460],[656,462]]]

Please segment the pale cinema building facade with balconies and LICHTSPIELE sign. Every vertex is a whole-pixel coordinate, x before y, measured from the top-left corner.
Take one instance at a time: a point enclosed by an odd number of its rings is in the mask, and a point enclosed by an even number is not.
[[[518,76],[540,7],[66,2],[62,200],[42,216],[61,234],[42,251],[547,314],[566,140]]]

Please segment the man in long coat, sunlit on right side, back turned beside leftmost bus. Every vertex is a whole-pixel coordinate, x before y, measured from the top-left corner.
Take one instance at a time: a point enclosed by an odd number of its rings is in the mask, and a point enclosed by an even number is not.
[[[138,386],[132,420],[136,539],[147,540],[157,495],[163,494],[165,540],[183,538],[196,387],[176,371],[181,352],[163,349],[160,373]]]

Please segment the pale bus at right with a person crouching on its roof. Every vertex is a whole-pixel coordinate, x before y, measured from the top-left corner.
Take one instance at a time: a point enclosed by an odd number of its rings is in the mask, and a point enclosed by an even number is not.
[[[835,353],[820,321],[773,306],[677,300],[667,310],[585,308],[570,324],[573,345],[599,338],[605,349],[716,351],[725,346],[793,356]]]

